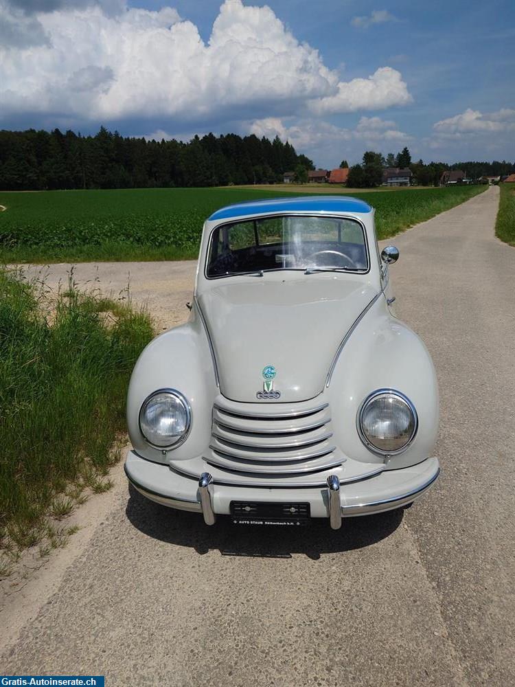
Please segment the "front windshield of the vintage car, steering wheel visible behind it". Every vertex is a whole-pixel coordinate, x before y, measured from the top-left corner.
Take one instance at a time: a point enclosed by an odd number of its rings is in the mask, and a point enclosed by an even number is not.
[[[214,229],[207,277],[277,269],[367,271],[363,227],[348,218],[289,215]]]

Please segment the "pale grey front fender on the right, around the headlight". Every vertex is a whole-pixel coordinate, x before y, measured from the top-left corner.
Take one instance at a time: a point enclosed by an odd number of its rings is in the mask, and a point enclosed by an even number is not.
[[[418,416],[417,433],[409,448],[386,461],[365,447],[356,429],[361,403],[382,388],[402,392]],[[385,298],[378,299],[345,343],[326,391],[335,438],[350,457],[363,462],[385,461],[387,469],[397,469],[432,455],[439,415],[433,361],[422,340],[391,316]]]

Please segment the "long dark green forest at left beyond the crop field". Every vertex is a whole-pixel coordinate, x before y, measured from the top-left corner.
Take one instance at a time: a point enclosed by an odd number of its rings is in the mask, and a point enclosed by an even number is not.
[[[299,167],[314,169],[279,137],[209,133],[183,143],[123,137],[104,127],[94,136],[0,131],[0,190],[277,183]]]

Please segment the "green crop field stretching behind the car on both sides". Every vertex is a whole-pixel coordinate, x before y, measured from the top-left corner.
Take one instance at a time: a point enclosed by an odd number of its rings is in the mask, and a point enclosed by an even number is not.
[[[484,189],[455,186],[353,195],[376,208],[378,237],[387,238]],[[343,188],[338,192],[345,194]],[[0,212],[0,261],[196,258],[203,222],[214,210],[277,197],[291,194],[273,188],[0,192],[5,207]]]

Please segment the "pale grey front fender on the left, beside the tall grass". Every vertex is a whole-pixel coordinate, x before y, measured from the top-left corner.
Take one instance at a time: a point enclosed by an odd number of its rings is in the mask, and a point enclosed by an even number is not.
[[[152,447],[139,430],[139,409],[158,389],[172,388],[190,403],[192,427],[187,440],[163,453]],[[127,426],[130,441],[139,455],[155,462],[187,460],[200,455],[209,445],[211,409],[218,393],[214,364],[207,335],[196,308],[183,324],[153,339],[139,356],[130,378],[127,395]]]

